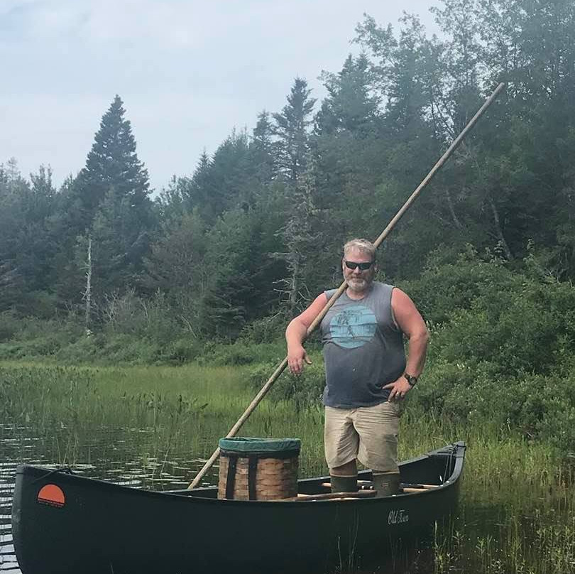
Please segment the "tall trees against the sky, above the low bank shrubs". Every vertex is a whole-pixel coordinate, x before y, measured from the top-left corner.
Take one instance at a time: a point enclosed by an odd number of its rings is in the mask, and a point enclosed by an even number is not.
[[[414,281],[471,246],[510,271],[572,281],[575,2],[443,0],[433,12],[440,37],[414,15],[397,28],[366,16],[358,55],[323,72],[321,102],[295,78],[283,109],[231,131],[154,199],[118,95],[59,189],[50,168],[26,178],[16,161],[0,166],[0,312],[94,332],[136,300],[224,340],[283,321],[339,284],[341,245],[378,236],[498,82],[505,92],[383,244],[380,267]]]

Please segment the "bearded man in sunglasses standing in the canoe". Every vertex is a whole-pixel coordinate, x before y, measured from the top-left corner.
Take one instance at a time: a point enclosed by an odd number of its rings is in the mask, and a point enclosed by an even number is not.
[[[357,490],[359,460],[373,470],[378,496],[399,492],[399,402],[425,364],[429,333],[412,300],[400,289],[373,281],[376,247],[366,239],[344,245],[346,291],[321,323],[326,387],[325,455],[332,492]],[[311,364],[307,328],[335,290],[325,291],[285,331],[292,374]],[[405,356],[403,336],[409,340]]]

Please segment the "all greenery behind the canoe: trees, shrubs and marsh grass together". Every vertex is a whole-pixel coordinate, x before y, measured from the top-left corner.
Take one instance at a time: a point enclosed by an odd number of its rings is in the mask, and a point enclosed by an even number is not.
[[[431,332],[402,456],[469,443],[436,572],[575,572],[575,3],[432,13],[438,36],[366,15],[321,102],[295,78],[283,109],[155,197],[117,94],[60,189],[49,167],[0,163],[0,432],[22,455],[35,428],[50,460],[86,463],[90,433],[118,424],[146,429],[138,464],[211,454],[285,356],[290,318],[339,285],[341,245],[377,237],[505,82],[378,250],[376,280]],[[315,475],[317,335],[307,348],[314,364],[283,374],[243,432],[304,439]]]

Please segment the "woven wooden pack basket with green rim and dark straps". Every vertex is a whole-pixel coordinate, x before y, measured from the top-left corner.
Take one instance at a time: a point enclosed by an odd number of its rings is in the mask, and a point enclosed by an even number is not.
[[[300,447],[298,438],[220,438],[218,498],[297,496]]]

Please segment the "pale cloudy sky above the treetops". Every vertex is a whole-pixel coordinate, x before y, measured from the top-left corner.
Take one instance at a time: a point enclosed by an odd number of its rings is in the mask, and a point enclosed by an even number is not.
[[[155,191],[191,175],[234,127],[280,112],[295,77],[324,96],[367,13],[437,31],[437,0],[0,0],[0,163],[58,187],[84,166],[115,94]]]

